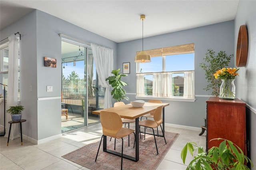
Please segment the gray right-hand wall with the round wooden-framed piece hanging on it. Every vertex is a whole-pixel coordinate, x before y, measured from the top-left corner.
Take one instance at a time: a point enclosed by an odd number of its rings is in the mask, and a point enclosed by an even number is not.
[[[250,156],[256,170],[256,1],[239,1],[234,24],[236,49],[238,32],[241,25],[246,25],[248,33],[248,58],[245,67],[240,67],[236,79],[236,95],[247,103],[246,135],[250,143]]]

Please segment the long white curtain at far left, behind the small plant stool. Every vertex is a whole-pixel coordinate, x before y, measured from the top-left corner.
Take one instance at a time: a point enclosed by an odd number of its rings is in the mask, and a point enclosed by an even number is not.
[[[7,95],[7,107],[18,105],[18,69],[19,69],[19,47],[18,39],[15,38],[15,35],[8,37],[9,39],[9,58],[8,58],[8,95]],[[6,134],[4,137],[8,137],[10,124],[8,121],[11,121],[11,115],[7,114],[7,123],[6,123]],[[10,139],[20,137],[19,132],[19,123],[12,124],[12,129],[10,132]]]

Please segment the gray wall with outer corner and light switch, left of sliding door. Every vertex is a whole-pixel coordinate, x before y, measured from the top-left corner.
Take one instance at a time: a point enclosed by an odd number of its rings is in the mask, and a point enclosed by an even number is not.
[[[25,110],[22,118],[27,119],[23,134],[33,142],[61,134],[61,38],[58,34],[96,43],[114,50],[116,65],[117,43],[35,10],[10,26],[1,30],[1,40],[14,32],[22,34],[20,42],[20,91]],[[43,57],[57,59],[57,67],[44,67]],[[46,92],[46,86],[53,92]],[[32,86],[32,92],[29,91]],[[46,100],[43,100],[45,99]],[[2,104],[1,104],[2,105]],[[2,115],[1,115],[2,117]]]

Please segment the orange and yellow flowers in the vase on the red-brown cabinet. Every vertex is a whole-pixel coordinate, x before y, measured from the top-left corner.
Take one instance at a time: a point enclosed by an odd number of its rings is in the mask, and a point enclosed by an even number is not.
[[[235,79],[236,75],[238,75],[237,71],[239,69],[236,68],[222,68],[214,74],[215,79]],[[238,75],[239,76],[239,75]]]

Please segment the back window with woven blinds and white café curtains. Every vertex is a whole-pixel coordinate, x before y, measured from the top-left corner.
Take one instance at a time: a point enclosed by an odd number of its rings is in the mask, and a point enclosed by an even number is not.
[[[137,63],[137,97],[194,99],[194,43],[147,50]]]

